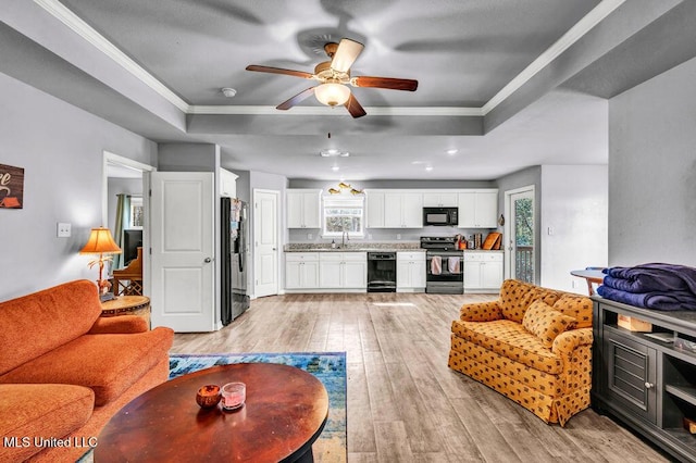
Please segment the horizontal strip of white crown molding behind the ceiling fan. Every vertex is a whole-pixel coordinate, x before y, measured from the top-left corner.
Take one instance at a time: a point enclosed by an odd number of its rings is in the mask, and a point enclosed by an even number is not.
[[[481,108],[414,108],[414,107],[366,107],[370,115],[382,116],[483,116]],[[227,114],[227,115],[322,115],[345,116],[346,112],[328,107],[295,107],[288,111],[278,111],[275,107],[245,107],[245,105],[191,105],[188,114]]]

